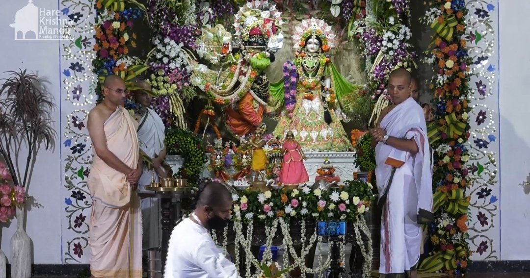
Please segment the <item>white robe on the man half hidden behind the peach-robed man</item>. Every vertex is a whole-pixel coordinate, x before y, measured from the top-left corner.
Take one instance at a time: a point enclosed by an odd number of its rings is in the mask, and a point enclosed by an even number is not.
[[[139,123],[144,124],[138,130],[138,140],[140,149],[150,158],[154,158],[164,149],[165,127],[160,116],[155,111],[147,109],[145,115],[140,119]],[[142,190],[145,186],[151,184],[152,170],[148,170],[144,166],[144,172],[138,181]],[[158,176],[155,174],[155,181],[158,181]],[[142,217],[143,217],[143,241],[142,246],[144,250],[152,247],[159,247],[161,244],[162,230],[160,228],[160,202],[158,199],[145,198],[142,200]]]

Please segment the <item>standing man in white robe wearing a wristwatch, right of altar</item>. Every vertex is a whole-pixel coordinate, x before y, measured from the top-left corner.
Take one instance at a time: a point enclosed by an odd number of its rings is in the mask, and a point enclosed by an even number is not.
[[[411,95],[411,75],[392,71],[393,105],[378,127],[375,169],[381,219],[381,277],[417,277],[421,225],[433,220],[432,165],[423,110]]]

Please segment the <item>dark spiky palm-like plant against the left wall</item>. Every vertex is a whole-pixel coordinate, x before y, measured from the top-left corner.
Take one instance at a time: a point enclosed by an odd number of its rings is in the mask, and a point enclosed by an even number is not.
[[[37,75],[25,69],[7,73],[10,77],[2,79],[0,87],[0,154],[12,173],[14,185],[27,190],[39,149],[55,146],[57,133],[51,127],[50,112],[56,105]],[[25,163],[18,164],[23,144],[28,153]]]

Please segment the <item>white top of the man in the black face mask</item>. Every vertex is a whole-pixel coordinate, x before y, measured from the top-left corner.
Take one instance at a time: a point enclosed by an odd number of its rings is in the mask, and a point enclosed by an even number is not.
[[[241,277],[235,264],[217,248],[208,230],[186,218],[171,232],[164,278]]]

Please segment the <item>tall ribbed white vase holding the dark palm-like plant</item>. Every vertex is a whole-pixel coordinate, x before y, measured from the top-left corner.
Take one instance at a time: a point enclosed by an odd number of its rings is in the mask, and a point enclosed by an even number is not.
[[[11,277],[31,277],[31,239],[24,230],[25,206],[16,207],[16,231],[11,238]]]

